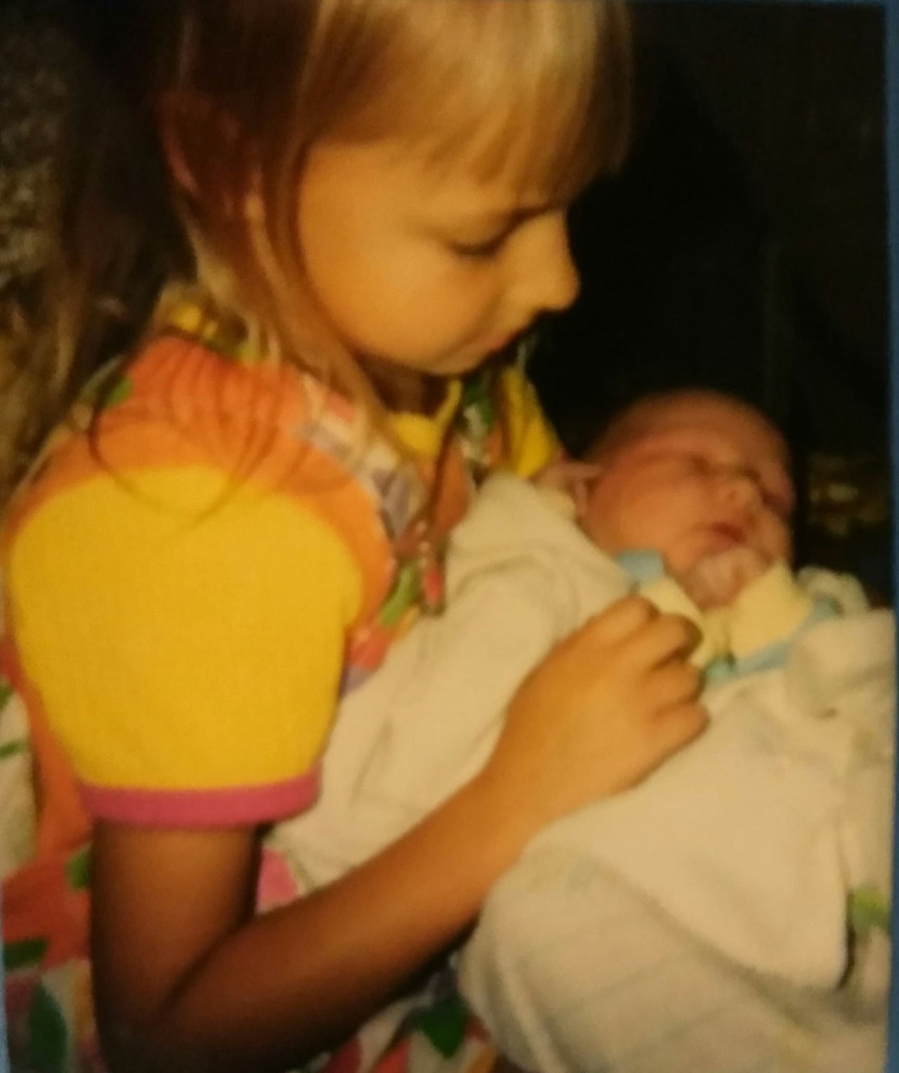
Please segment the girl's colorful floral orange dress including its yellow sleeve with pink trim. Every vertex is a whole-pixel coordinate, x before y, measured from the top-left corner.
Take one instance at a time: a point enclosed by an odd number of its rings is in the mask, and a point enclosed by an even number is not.
[[[276,824],[309,807],[338,697],[439,613],[443,541],[478,477],[527,475],[557,450],[514,368],[449,383],[437,415],[391,430],[405,452],[310,377],[173,332],[75,414],[14,504],[0,825],[25,843],[3,862],[15,1069],[102,1068],[92,819]],[[260,911],[296,891],[266,849]],[[494,1061],[443,974],[316,1067]]]

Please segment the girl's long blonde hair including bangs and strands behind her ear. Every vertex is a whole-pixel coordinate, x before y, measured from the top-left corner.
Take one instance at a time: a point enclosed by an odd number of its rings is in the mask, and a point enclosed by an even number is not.
[[[378,400],[352,357],[313,352],[304,332],[319,315],[301,305],[306,289],[299,285],[296,197],[310,146],[323,137],[400,136],[447,170],[502,176],[557,201],[597,172],[614,170],[625,152],[630,33],[623,4],[146,0],[145,6],[149,23],[141,36],[153,61],[135,103],[155,120],[157,157],[168,159],[177,178],[170,178],[169,192],[188,242],[173,237],[159,199],[149,197],[149,207],[162,223],[145,220],[139,232],[147,252],[133,229],[126,233],[127,211],[117,211],[113,232],[104,232],[98,203],[108,185],[104,191],[95,183],[100,197],[77,192],[68,229],[75,241],[62,247],[57,381],[69,383],[67,369],[91,365],[97,339],[108,336],[98,320],[128,306],[131,279],[145,289],[147,278],[164,276],[170,297],[187,288],[224,330],[252,333],[266,353],[311,368],[377,416]],[[95,124],[100,103],[93,101]],[[115,151],[114,142],[106,139],[105,153]],[[145,186],[159,189],[150,181],[154,167],[147,171]],[[133,162],[126,172],[140,187]],[[246,211],[250,192],[256,214]],[[116,231],[125,253],[111,273]],[[96,256],[79,253],[85,240],[107,251],[102,270]],[[165,305],[163,298],[157,323]]]

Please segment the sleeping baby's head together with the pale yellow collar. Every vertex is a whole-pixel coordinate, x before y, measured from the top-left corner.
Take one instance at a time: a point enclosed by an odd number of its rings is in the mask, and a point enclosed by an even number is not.
[[[648,599],[699,627],[693,659],[711,676],[832,613],[788,569],[788,452],[756,410],[710,392],[651,396],[589,458],[593,471],[562,464],[539,483],[571,495],[581,529]]]

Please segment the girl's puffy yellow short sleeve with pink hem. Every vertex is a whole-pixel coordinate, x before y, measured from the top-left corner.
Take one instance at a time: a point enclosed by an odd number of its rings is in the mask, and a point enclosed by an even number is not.
[[[357,560],[296,496],[203,466],[125,476],[49,497],[6,555],[18,656],[88,808],[162,825],[299,811],[361,606]]]

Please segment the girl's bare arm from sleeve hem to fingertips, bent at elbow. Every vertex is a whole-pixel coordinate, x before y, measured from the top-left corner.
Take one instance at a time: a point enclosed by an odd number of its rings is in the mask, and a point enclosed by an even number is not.
[[[281,1070],[333,1044],[451,942],[542,825],[700,732],[681,619],[628,599],[519,690],[484,771],[333,885],[252,915],[252,831],[100,824],[98,1017],[113,1073]]]

